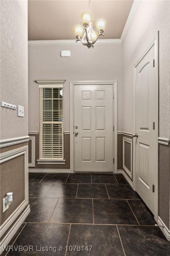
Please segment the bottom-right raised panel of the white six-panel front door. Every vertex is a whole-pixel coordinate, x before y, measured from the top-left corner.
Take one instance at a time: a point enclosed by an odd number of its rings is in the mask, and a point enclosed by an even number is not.
[[[105,137],[96,137],[96,161],[105,161]]]

